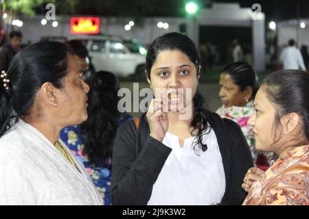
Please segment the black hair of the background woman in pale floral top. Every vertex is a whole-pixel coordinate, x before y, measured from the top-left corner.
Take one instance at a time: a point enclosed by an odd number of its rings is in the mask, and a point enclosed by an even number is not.
[[[240,91],[244,91],[248,86],[252,88],[252,94],[250,101],[255,98],[256,92],[258,92],[260,85],[258,75],[253,67],[247,62],[233,62],[223,68],[222,74],[227,74],[233,80]]]

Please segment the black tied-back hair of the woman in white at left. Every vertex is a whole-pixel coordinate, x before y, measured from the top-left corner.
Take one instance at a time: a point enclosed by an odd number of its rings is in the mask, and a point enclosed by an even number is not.
[[[8,90],[0,82],[0,137],[18,118],[30,116],[43,83],[63,88],[68,54],[67,47],[60,42],[38,42],[14,56],[6,77],[10,80]]]

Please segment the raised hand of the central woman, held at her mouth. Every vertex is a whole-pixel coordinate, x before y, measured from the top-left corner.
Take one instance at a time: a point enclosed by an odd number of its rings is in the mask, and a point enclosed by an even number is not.
[[[150,136],[162,142],[166,131],[168,131],[168,103],[163,99],[152,99],[146,114]]]

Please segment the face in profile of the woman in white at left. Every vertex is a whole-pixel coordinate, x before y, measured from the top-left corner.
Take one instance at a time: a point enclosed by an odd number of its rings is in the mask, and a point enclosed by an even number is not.
[[[59,116],[65,125],[78,125],[87,120],[87,92],[89,86],[81,77],[78,60],[73,55],[68,56],[68,75],[65,77],[65,87],[60,90],[58,107]]]

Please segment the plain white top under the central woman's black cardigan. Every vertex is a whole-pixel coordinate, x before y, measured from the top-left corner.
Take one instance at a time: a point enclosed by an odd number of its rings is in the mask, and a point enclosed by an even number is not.
[[[196,155],[192,149],[194,137],[187,138],[183,147],[179,138],[165,133],[163,144],[172,152],[159,174],[148,205],[213,205],[225,194],[225,170],[216,133],[204,133],[207,151]]]

